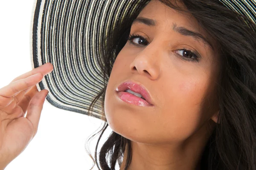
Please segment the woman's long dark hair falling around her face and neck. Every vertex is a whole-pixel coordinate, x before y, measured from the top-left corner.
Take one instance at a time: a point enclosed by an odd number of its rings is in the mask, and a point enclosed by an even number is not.
[[[116,56],[119,54],[131,29],[132,21],[150,0],[143,0],[141,6],[122,20],[102,44],[102,74],[104,88],[89,107],[90,112],[102,97],[102,120],[104,127],[96,144],[95,160],[102,170],[114,170],[119,166],[125,149],[128,156],[125,170],[131,163],[131,141],[112,131],[103,144],[97,160],[99,141],[108,127],[104,112],[104,98],[108,78]],[[176,3],[159,0],[163,4],[183,11]],[[221,73],[216,83],[219,109],[218,123],[209,138],[201,157],[202,170],[256,170],[256,24],[247,17],[223,6],[219,0],[182,0],[187,10],[198,20],[219,46]],[[103,50],[104,49],[104,50]],[[90,141],[96,134],[91,136]],[[109,161],[108,161],[109,159]],[[108,165],[109,164],[109,165]],[[100,166],[100,167],[99,167]]]

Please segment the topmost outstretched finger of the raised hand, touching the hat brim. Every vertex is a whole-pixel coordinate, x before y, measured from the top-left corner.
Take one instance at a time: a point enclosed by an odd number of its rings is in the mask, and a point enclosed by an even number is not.
[[[21,79],[23,79],[23,78],[27,78],[27,77],[29,77],[29,76],[31,76],[31,75],[35,75],[35,74],[37,74],[37,73],[39,73],[39,72],[41,72],[41,73],[45,76],[45,75],[47,75],[49,72],[52,72],[52,70],[53,70],[53,65],[52,65],[52,63],[45,63],[44,65],[41,65],[41,66],[39,66],[39,67],[37,67],[37,68],[35,68],[35,69],[32,69],[31,71],[26,72],[26,73],[24,73],[23,75],[20,75],[19,77],[13,79],[12,82],[15,82],[15,81],[17,81],[17,80],[21,80]],[[11,83],[12,83],[12,82],[11,82]]]

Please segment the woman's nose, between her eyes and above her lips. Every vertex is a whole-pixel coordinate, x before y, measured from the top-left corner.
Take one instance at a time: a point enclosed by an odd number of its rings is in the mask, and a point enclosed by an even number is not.
[[[130,64],[132,73],[145,75],[151,80],[156,80],[160,76],[161,49],[152,43],[141,51]]]

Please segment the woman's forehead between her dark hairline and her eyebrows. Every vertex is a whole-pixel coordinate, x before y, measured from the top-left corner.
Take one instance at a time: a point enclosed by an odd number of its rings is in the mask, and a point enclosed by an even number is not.
[[[170,0],[171,3],[181,6],[185,9],[184,5],[180,1]],[[169,31],[174,31],[175,26],[184,27],[192,32],[199,33],[201,37],[205,38],[205,42],[209,42],[212,49],[217,49],[217,42],[211,37],[206,30],[204,30],[198,23],[195,17],[189,12],[180,12],[172,9],[169,6],[161,3],[159,0],[151,0],[140,12],[137,18],[145,17],[154,20],[156,29],[164,28]],[[140,22],[138,22],[140,23]]]

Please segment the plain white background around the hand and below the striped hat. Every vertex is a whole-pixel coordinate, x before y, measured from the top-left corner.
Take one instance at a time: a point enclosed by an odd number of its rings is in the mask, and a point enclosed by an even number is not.
[[[0,88],[30,71],[30,22],[34,0],[2,0],[0,3]],[[38,133],[5,170],[89,170],[93,164],[85,140],[102,121],[53,107],[47,101]],[[111,129],[102,137],[102,146]],[[94,154],[97,136],[91,143]],[[93,170],[96,170],[96,166]]]

